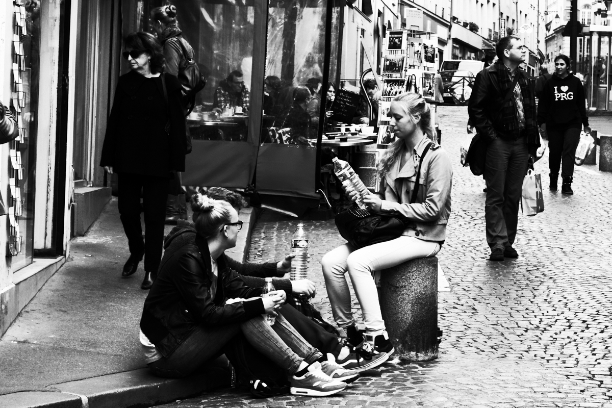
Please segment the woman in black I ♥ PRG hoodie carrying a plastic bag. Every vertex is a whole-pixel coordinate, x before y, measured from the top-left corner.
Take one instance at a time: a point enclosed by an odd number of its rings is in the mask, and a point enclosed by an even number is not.
[[[550,190],[557,190],[561,167],[563,194],[573,194],[573,166],[580,130],[584,126],[584,132],[591,132],[582,82],[568,71],[569,67],[567,56],[560,54],[554,59],[554,74],[544,85],[537,112],[537,123],[548,133]]]

